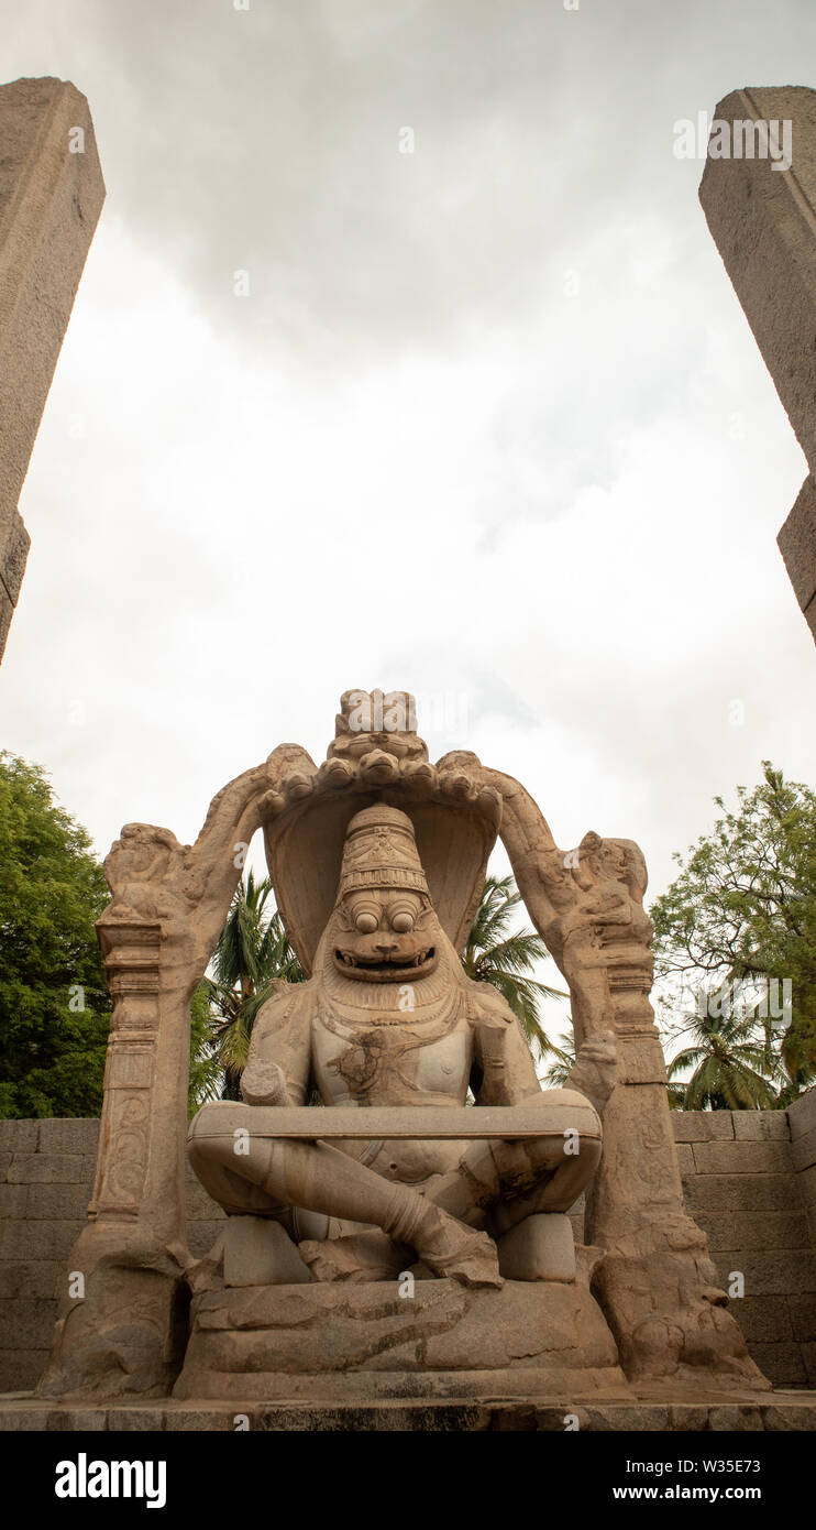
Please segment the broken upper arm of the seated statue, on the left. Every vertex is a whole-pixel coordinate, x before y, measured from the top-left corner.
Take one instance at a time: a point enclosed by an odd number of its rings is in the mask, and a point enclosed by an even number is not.
[[[307,984],[281,982],[252,1028],[241,1077],[248,1105],[306,1105],[312,1062]]]

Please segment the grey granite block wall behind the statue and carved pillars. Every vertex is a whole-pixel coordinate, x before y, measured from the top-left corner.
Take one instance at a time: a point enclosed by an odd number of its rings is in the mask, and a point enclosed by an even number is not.
[[[686,1204],[732,1311],[776,1386],[816,1388],[816,1089],[788,1111],[672,1112]],[[60,1282],[86,1219],[96,1120],[0,1121],[0,1392],[31,1391],[47,1360]],[[188,1242],[200,1258],[223,1213],[193,1172]],[[581,1236],[581,1207],[573,1210]]]

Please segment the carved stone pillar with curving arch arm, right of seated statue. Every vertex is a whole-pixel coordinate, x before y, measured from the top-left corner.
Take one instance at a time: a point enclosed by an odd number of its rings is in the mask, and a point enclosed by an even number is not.
[[[601,1167],[587,1192],[587,1239],[602,1252],[593,1294],[623,1371],[648,1385],[767,1391],[726,1311],[706,1238],[683,1206],[649,1002],[643,855],[631,840],[593,831],[564,854],[520,782],[491,770],[481,779],[501,794],[500,834],[518,890],[570,987],[578,1059],[568,1086],[590,1099],[594,1089],[604,1115]],[[604,1053],[611,1043],[610,1092]]]

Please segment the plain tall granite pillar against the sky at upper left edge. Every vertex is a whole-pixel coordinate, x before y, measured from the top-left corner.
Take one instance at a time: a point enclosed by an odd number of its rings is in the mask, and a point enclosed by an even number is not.
[[[29,549],[17,502],[104,197],[86,98],[0,86],[0,658]]]

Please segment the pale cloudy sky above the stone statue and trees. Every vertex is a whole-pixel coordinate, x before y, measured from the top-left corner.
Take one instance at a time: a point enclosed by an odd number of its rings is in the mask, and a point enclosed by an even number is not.
[[[321,759],[356,685],[561,845],[639,840],[651,892],[764,757],[813,783],[775,546],[805,461],[674,155],[737,86],[816,86],[811,0],[0,20],[5,80],[87,95],[108,188],[0,670],[3,744],[101,854]]]

